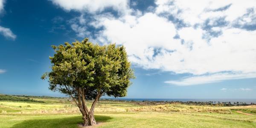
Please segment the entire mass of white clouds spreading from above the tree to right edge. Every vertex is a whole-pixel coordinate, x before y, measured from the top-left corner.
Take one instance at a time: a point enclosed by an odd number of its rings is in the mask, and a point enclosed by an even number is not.
[[[94,27],[94,41],[124,45],[134,65],[192,74],[166,83],[184,86],[256,77],[255,0],[156,0],[148,11],[132,9],[122,0],[100,5],[65,1],[52,2],[81,12],[71,25],[79,37]],[[122,15],[102,12],[109,7]],[[84,10],[93,14],[90,22]]]

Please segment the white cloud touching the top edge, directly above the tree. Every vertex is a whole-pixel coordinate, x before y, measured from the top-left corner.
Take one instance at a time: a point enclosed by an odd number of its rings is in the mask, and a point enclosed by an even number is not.
[[[118,12],[126,12],[128,10],[128,0],[51,0],[55,5],[70,11],[76,10],[80,12],[102,12],[106,8],[112,8]]]

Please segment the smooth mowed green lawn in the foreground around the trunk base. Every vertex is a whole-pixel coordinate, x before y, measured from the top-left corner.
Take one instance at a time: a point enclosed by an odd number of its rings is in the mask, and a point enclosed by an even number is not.
[[[96,114],[95,118],[101,122],[99,128],[256,128],[255,122],[237,121],[233,116],[218,114],[125,113]],[[1,128],[77,128],[81,122],[81,115],[0,115]]]

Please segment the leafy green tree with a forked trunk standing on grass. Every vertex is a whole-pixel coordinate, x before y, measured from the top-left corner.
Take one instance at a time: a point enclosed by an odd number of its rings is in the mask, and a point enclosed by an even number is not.
[[[127,93],[134,72],[128,61],[125,47],[109,44],[100,46],[85,38],[52,46],[55,50],[52,71],[41,79],[49,81],[49,89],[69,95],[76,103],[84,126],[95,125],[94,108],[101,96],[122,97]],[[93,103],[87,108],[87,100]]]

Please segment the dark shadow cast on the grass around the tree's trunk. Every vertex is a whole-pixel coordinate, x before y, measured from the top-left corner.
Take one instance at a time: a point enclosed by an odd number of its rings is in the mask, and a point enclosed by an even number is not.
[[[108,122],[110,116],[95,115],[97,122]],[[77,124],[82,123],[82,116],[64,117],[55,119],[31,119],[14,125],[12,128],[78,128]]]

